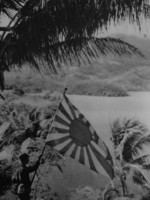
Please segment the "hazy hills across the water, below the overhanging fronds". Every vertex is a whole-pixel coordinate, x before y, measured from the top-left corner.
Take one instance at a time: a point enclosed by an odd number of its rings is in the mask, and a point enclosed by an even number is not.
[[[67,87],[69,93],[99,96],[126,96],[128,91],[150,91],[150,40],[120,34],[115,37],[138,47],[145,59],[109,55],[88,66],[63,66],[58,76],[39,75],[25,68],[22,72],[5,74],[6,88],[53,92]]]

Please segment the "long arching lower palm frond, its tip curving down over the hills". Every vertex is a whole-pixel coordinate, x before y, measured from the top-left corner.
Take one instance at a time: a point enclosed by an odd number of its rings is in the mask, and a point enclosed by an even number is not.
[[[27,34],[28,35],[28,34]],[[77,63],[89,64],[100,55],[144,55],[134,46],[115,38],[74,38],[67,41],[57,41],[51,44],[48,39],[35,37],[29,39],[21,36],[16,41],[12,39],[5,52],[5,59],[9,66],[25,63],[31,64],[38,71],[50,70],[51,73],[57,73],[62,64],[72,65]],[[14,40],[14,42],[13,42]],[[38,41],[38,42],[36,42]],[[40,42],[41,41],[41,42]],[[29,53],[30,52],[30,53]],[[41,67],[41,62],[44,64]],[[8,64],[7,64],[8,66]]]

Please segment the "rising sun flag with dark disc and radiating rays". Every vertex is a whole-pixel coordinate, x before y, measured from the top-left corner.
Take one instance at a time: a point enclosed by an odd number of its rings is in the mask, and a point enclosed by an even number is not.
[[[107,146],[65,94],[54,116],[46,144],[91,170],[114,178],[112,157]]]

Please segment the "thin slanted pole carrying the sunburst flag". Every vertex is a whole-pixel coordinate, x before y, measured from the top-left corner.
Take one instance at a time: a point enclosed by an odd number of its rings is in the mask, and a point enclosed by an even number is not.
[[[49,129],[49,132],[51,132],[51,129],[52,129],[52,127],[53,127],[52,125],[53,125],[54,120],[55,120],[55,117],[56,117],[56,115],[57,115],[57,113],[58,113],[59,106],[60,106],[60,104],[61,104],[61,102],[62,102],[62,100],[63,100],[63,98],[64,98],[64,95],[66,94],[66,91],[67,91],[67,88],[64,89],[63,95],[62,95],[62,97],[60,98],[60,101],[59,101],[59,103],[58,103],[57,109],[56,109],[55,114],[54,114],[54,116],[53,116],[53,120],[52,120],[50,129]],[[43,129],[43,130],[44,130],[44,129]],[[42,131],[43,131],[43,130],[42,130]],[[43,149],[42,149],[42,153],[41,153],[41,157],[39,158],[39,162],[40,162],[40,160],[41,160],[41,158],[42,158],[42,156],[43,156],[43,153],[44,153],[44,151],[45,151],[45,148],[46,148],[46,142],[45,142],[44,147],[43,147]],[[37,168],[37,169],[38,169],[38,168]],[[34,172],[34,175],[33,175],[32,181],[31,181],[31,186],[32,186],[32,183],[33,183],[33,181],[34,181],[35,175],[36,175],[36,173],[37,173],[37,169],[36,169],[35,172]]]

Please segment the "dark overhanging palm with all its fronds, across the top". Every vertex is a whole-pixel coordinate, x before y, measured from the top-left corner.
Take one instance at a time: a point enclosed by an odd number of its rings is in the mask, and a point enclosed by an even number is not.
[[[143,57],[122,40],[96,34],[126,17],[140,24],[142,12],[148,13],[145,0],[2,0],[0,14],[7,14],[10,23],[0,27],[0,71],[28,63],[57,73],[62,64],[86,64],[108,53]]]

